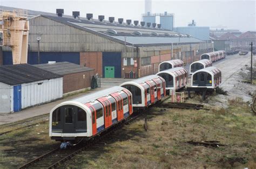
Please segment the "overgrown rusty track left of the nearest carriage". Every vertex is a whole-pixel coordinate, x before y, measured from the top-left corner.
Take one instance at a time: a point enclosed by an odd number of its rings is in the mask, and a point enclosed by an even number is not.
[[[46,118],[48,116],[49,116],[49,114],[44,114],[44,115],[27,118],[27,119],[24,119],[21,121],[13,122],[13,123],[2,124],[2,125],[0,125],[0,129],[1,129],[0,136],[4,135],[6,133],[9,133],[9,132],[15,131],[15,130],[24,129],[29,126],[41,123],[42,121],[38,121],[38,120]],[[18,125],[22,125],[22,126],[18,126]],[[18,127],[16,127],[16,126],[18,126]],[[8,130],[8,128],[11,128],[11,129]]]

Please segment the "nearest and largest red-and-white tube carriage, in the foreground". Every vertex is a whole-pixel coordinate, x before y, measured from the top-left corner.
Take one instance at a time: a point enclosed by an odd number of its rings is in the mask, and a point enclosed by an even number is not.
[[[130,116],[132,94],[112,87],[58,104],[50,112],[49,136],[55,140],[92,137]]]

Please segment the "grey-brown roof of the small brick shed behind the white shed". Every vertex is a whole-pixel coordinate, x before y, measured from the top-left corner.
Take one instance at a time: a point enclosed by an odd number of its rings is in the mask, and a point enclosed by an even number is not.
[[[87,72],[87,71],[94,70],[92,68],[79,66],[77,64],[72,64],[70,62],[56,62],[53,64],[40,64],[40,65],[33,65],[33,66],[44,69],[46,71],[50,71],[52,73],[59,74],[59,75]]]

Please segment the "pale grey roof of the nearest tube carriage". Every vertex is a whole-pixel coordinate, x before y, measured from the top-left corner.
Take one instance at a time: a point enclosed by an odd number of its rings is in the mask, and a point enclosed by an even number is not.
[[[111,88],[107,88],[107,89],[104,89],[104,90],[97,91],[95,93],[91,93],[91,94],[88,94],[88,95],[84,95],[84,96],[75,98],[72,101],[85,104],[85,103],[95,101],[97,98],[104,97],[104,96],[110,95],[112,93],[116,93],[116,92],[121,91],[123,89],[125,89],[125,88],[120,87],[120,86],[114,86],[114,87],[111,87]]]

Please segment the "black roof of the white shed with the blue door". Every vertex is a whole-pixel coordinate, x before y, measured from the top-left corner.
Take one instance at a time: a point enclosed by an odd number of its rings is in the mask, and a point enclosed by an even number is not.
[[[0,66],[0,82],[8,85],[60,78],[58,75],[29,64]]]

